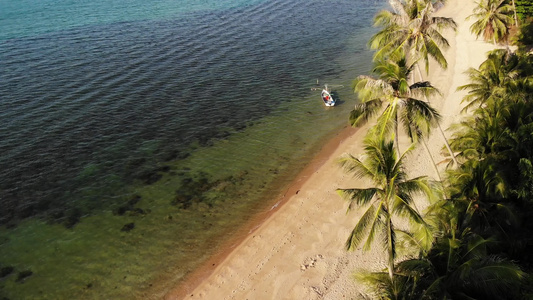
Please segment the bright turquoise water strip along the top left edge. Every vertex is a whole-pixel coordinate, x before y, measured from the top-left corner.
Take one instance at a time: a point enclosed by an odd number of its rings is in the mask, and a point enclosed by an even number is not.
[[[264,0],[0,1],[0,40],[36,36],[77,27],[122,22],[174,20],[205,12],[257,5]]]

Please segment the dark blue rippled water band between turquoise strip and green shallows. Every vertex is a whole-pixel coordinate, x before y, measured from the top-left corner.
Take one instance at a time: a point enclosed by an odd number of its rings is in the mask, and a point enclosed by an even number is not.
[[[96,175],[126,184],[135,170],[124,164],[146,157],[146,143],[155,164],[302,101],[314,78],[346,70],[332,57],[370,22],[333,2],[258,1],[0,42],[0,197],[62,205],[101,186]],[[102,173],[80,182],[88,165]]]

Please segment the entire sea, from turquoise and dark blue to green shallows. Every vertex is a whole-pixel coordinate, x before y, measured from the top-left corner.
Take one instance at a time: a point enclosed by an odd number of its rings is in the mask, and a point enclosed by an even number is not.
[[[385,5],[0,0],[0,296],[178,284],[347,125]]]

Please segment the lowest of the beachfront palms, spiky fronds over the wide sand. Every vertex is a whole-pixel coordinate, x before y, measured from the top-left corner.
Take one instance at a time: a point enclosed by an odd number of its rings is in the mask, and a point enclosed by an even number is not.
[[[344,168],[358,178],[370,179],[373,187],[338,189],[337,192],[350,204],[348,211],[356,206],[366,207],[363,216],[355,225],[346,241],[346,248],[354,250],[364,243],[369,250],[379,236],[387,253],[388,275],[394,280],[394,260],[396,258],[396,226],[393,215],[408,218],[416,224],[425,222],[414,206],[413,196],[417,193],[428,199],[435,196],[433,185],[426,177],[408,179],[404,171],[404,159],[412,146],[398,156],[392,141],[367,137],[365,157],[362,159],[346,156],[341,160]],[[431,233],[427,226],[418,227],[419,240],[431,245]]]

